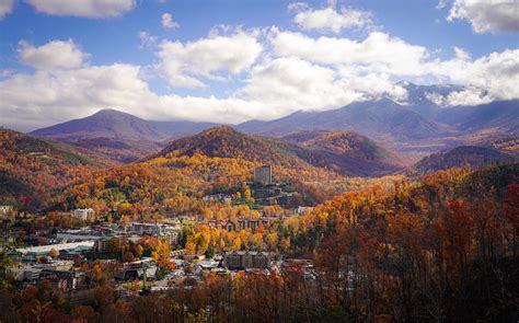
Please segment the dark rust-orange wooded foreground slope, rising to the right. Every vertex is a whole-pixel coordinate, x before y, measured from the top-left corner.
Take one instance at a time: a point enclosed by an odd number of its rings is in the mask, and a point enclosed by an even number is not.
[[[44,284],[13,291],[12,299],[5,287],[2,320],[514,322],[518,175],[518,165],[454,169],[419,184],[396,182],[391,191],[349,192],[249,238],[312,257],[312,279],[295,264],[269,276],[214,275],[199,286],[129,300],[100,280],[91,303],[72,308]],[[224,249],[222,232],[189,234],[186,244],[200,252]]]

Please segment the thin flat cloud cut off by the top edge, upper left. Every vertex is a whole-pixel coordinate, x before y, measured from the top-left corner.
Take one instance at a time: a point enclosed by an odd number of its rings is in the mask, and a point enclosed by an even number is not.
[[[118,16],[134,9],[135,0],[26,0],[38,12],[81,18]]]

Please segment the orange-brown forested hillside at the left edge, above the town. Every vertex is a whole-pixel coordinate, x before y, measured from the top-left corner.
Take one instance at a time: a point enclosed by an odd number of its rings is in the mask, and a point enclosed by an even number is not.
[[[0,129],[0,204],[48,205],[53,192],[99,168],[62,145]]]

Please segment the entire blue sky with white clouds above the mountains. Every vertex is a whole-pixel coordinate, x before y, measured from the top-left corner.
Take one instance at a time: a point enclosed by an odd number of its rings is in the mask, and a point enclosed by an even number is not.
[[[458,84],[519,99],[519,0],[0,0],[0,126],[238,124]]]

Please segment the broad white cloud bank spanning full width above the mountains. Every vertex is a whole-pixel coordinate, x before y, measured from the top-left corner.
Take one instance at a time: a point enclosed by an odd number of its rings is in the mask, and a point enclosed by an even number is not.
[[[147,33],[139,37],[157,42]],[[464,85],[443,96],[429,93],[428,99],[442,106],[519,99],[519,49],[473,58],[453,48],[452,57],[442,59],[425,47],[380,32],[354,41],[277,28],[258,35],[226,26],[207,38],[166,41],[152,48],[158,57],[154,71],[172,86],[204,86],[206,80],[231,77],[240,78],[242,85],[221,97],[157,94],[145,76],[149,67],[88,66],[88,54],[72,41],[39,47],[21,43],[20,60],[35,70],[2,74],[0,120],[3,126],[30,130],[103,107],[149,119],[272,119],[381,95],[405,102],[405,86],[394,83],[402,78]]]

